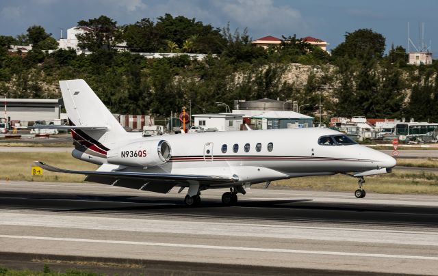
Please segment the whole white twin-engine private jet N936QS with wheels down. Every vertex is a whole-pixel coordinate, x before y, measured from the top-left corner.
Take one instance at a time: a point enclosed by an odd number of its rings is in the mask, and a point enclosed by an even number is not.
[[[237,202],[251,184],[300,176],[348,174],[359,179],[356,197],[365,197],[364,176],[385,174],[396,161],[326,128],[188,133],[142,137],[127,133],[83,80],[60,81],[73,135],[72,155],[99,164],[96,171],[49,171],[83,174],[86,181],[168,193],[187,189],[185,204],[196,206],[201,192],[229,188],[226,205]],[[48,128],[49,126],[40,126]]]

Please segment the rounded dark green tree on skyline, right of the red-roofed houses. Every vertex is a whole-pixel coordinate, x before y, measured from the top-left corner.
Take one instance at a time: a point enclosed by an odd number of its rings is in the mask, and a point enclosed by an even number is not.
[[[385,52],[385,37],[372,29],[358,29],[345,34],[345,41],[332,51],[335,57],[380,59]]]

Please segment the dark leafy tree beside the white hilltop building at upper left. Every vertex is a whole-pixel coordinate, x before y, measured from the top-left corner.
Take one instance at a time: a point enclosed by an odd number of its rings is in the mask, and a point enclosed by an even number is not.
[[[77,24],[84,31],[76,36],[78,46],[92,52],[111,50],[122,38],[117,22],[104,15],[87,21],[80,20]]]

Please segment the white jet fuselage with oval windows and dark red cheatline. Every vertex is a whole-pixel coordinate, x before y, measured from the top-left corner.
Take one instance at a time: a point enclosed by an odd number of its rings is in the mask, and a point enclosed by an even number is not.
[[[119,148],[122,154],[129,145],[141,145],[144,141],[165,140],[170,145],[171,157],[165,163],[152,167],[125,166],[123,170],[126,171],[237,175],[241,182],[354,173],[396,165],[391,156],[357,143],[322,143],[321,137],[333,135],[343,134],[326,128],[188,133],[155,137],[134,137],[129,134],[120,139],[118,145],[112,146]],[[157,150],[154,146],[138,148],[148,153]],[[90,161],[86,156],[80,158]],[[104,159],[102,163],[105,163]]]

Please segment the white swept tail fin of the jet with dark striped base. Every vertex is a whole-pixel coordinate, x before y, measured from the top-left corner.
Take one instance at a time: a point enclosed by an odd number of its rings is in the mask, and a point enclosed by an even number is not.
[[[90,150],[97,147],[106,155],[114,143],[125,137],[125,129],[83,79],[60,81],[60,87],[70,124],[84,127],[72,130],[73,138],[81,146]],[[86,128],[90,126],[105,126],[106,129]]]

